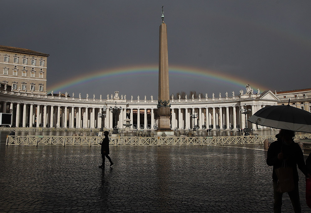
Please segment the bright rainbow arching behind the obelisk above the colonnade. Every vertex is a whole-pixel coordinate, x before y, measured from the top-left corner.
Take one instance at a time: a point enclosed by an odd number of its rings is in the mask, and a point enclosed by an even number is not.
[[[80,75],[74,77],[70,80],[58,82],[52,86],[48,86],[47,91],[64,91],[73,86],[78,86],[86,83],[91,83],[92,81],[97,81],[99,79],[109,80],[111,78],[116,78],[118,76],[146,76],[146,75],[158,75],[159,68],[157,65],[138,65],[132,67],[116,67],[112,69],[94,71],[88,74]],[[169,75],[174,75],[179,77],[187,78],[199,78],[206,79],[207,81],[219,81],[222,83],[231,84],[244,88],[246,84],[250,84],[253,88],[260,88],[262,91],[266,90],[265,86],[259,85],[255,81],[249,81],[246,79],[241,79],[240,76],[234,76],[229,74],[224,74],[220,71],[214,71],[210,69],[200,69],[195,67],[186,66],[169,66]],[[171,77],[170,77],[171,78]]]

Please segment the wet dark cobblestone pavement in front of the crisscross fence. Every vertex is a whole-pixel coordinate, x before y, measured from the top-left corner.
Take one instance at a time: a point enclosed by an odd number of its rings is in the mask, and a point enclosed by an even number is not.
[[[273,212],[266,152],[222,146],[0,146],[0,212]],[[260,147],[258,147],[260,148]],[[305,183],[299,171],[303,212]],[[287,194],[283,211],[293,212]]]

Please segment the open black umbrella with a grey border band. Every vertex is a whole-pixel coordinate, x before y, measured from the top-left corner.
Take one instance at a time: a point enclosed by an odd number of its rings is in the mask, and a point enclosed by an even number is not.
[[[265,127],[311,132],[311,113],[290,105],[264,107],[249,117],[248,121]]]

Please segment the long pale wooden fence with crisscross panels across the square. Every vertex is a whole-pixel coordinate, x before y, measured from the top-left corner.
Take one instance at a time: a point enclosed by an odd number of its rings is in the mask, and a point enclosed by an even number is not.
[[[311,139],[311,134],[296,135],[295,139]],[[7,146],[98,146],[100,136],[7,136]],[[230,137],[110,137],[111,146],[182,146],[182,145],[227,145],[263,144],[268,139],[276,140],[273,135],[230,136]]]

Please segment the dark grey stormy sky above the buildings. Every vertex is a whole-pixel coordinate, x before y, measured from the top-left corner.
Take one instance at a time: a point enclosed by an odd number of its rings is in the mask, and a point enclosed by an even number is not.
[[[47,89],[58,93],[57,85],[96,72],[157,67],[162,4],[169,67],[190,74],[170,74],[170,94],[218,97],[252,83],[261,92],[311,87],[311,1],[2,1],[0,44],[50,54]],[[242,83],[192,76],[191,67]],[[105,98],[115,90],[156,97],[157,73],[97,78],[61,92]]]

